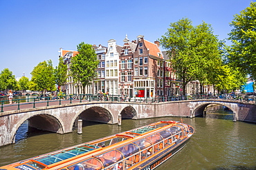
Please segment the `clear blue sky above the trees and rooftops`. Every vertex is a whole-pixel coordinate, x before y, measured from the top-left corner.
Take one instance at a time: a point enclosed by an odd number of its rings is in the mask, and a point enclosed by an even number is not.
[[[250,6],[250,0],[0,0],[0,71],[15,77],[30,72],[42,61],[58,63],[58,50],[76,50],[81,43],[107,45],[125,34],[156,41],[170,23],[188,18],[193,25],[212,25],[219,39],[228,38],[229,23]]]

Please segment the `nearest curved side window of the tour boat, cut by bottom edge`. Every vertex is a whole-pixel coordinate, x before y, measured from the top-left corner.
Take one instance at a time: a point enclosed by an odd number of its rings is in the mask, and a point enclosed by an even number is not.
[[[91,169],[102,169],[102,162],[95,158],[84,160],[78,164],[73,164],[68,167],[70,170],[91,170]]]

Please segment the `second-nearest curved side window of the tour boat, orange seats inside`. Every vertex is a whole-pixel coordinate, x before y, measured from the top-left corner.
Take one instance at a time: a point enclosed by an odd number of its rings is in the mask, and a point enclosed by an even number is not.
[[[113,164],[114,162],[121,160],[123,156],[120,151],[112,150],[103,153],[100,156],[95,156],[95,158],[98,158],[103,163],[104,167],[107,167],[109,164]]]

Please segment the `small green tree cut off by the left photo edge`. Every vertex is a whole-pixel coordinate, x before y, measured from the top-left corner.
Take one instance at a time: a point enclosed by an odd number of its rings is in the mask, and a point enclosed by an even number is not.
[[[0,90],[7,89],[17,89],[17,81],[15,80],[15,75],[12,75],[12,72],[5,68],[0,74]]]

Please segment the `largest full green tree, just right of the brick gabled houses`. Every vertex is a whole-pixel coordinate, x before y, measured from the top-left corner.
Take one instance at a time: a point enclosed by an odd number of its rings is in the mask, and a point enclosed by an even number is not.
[[[171,23],[160,42],[168,50],[172,67],[183,81],[183,95],[190,81],[207,83],[207,74],[221,63],[217,36],[204,22],[195,27],[189,19]]]

